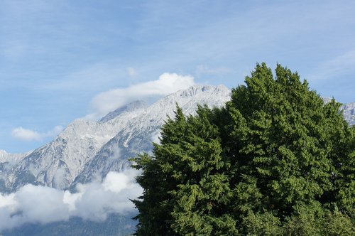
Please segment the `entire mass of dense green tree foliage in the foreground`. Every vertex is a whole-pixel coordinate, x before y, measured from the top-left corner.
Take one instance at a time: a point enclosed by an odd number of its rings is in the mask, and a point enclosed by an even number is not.
[[[263,63],[221,109],[134,159],[136,235],[354,235],[355,132],[297,73]]]

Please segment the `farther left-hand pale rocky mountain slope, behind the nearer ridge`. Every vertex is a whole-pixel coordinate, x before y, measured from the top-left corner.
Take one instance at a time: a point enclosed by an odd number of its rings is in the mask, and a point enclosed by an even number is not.
[[[9,171],[6,191],[16,191],[26,183],[60,189],[70,186],[84,164],[142,109],[126,107],[128,111],[121,109],[115,114],[116,122],[77,119],[69,124],[53,141],[35,149]]]

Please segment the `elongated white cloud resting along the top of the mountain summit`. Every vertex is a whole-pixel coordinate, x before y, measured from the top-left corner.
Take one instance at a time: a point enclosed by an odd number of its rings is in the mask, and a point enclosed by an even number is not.
[[[168,95],[178,90],[186,89],[194,84],[194,78],[190,75],[163,73],[158,80],[102,92],[92,100],[92,107],[95,113],[89,114],[87,118],[95,119],[133,100]]]

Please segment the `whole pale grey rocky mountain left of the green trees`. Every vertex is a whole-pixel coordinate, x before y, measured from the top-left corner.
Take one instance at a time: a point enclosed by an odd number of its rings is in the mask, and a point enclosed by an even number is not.
[[[158,140],[160,126],[167,116],[173,117],[176,104],[186,114],[193,114],[197,104],[222,106],[229,100],[229,93],[222,85],[197,85],[150,106],[131,102],[98,122],[77,119],[49,144],[23,156],[6,171],[1,191],[16,191],[27,183],[67,189],[72,183],[86,183],[94,176],[121,171],[129,166],[127,159],[151,151],[151,142]]]

